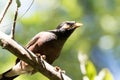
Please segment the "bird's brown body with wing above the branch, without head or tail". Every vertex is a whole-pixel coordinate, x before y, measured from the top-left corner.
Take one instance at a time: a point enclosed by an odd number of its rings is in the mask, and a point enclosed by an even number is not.
[[[35,54],[45,55],[46,61],[51,64],[59,56],[63,44],[64,40],[61,41],[56,34],[46,31],[38,33],[26,46]]]

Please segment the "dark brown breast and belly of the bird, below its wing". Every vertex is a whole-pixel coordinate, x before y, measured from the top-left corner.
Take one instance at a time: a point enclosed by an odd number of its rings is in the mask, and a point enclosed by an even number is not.
[[[52,63],[60,55],[63,43],[60,43],[59,41],[54,39],[43,43],[43,45],[41,46],[37,46],[38,51],[36,53],[45,55],[47,62]]]

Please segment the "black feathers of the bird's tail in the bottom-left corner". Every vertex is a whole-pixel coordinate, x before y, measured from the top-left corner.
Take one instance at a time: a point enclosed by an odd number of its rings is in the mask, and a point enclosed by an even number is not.
[[[9,69],[8,71],[4,72],[3,74],[0,74],[0,80],[13,80],[18,75],[9,75],[11,74],[12,69]]]

